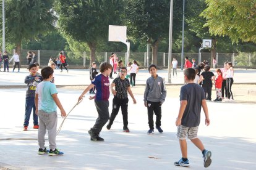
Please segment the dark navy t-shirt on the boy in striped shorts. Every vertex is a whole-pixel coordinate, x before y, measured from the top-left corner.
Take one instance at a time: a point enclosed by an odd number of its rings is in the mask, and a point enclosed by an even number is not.
[[[187,127],[195,127],[200,124],[202,100],[205,99],[203,88],[195,83],[189,83],[181,87],[180,100],[187,100],[187,106],[181,118],[181,124]]]

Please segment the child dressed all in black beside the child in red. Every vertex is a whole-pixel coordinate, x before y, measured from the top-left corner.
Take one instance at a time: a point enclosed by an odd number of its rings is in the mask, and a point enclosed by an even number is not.
[[[205,66],[205,71],[201,74],[201,79],[203,79],[202,87],[205,91],[205,98],[211,101],[211,87],[213,87],[213,82],[215,80],[215,75],[210,71],[210,65]]]

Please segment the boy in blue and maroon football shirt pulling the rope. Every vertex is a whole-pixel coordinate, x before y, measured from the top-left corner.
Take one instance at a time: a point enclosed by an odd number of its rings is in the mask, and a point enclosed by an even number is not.
[[[98,118],[94,126],[88,131],[91,136],[91,140],[93,141],[104,141],[102,137],[100,137],[100,131],[102,127],[108,122],[109,113],[108,113],[108,98],[109,98],[109,79],[108,76],[112,71],[112,66],[108,62],[103,62],[100,64],[100,72],[101,74],[96,76],[95,79],[92,80],[92,83],[82,92],[78,101],[83,99],[83,95],[85,95],[92,87],[96,86],[96,95],[90,97],[90,99],[95,99],[95,107],[98,111]]]

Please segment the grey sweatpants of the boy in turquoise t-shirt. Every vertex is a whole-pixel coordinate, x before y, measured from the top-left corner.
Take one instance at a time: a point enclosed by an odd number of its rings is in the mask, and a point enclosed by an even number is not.
[[[57,128],[57,111],[47,113],[43,110],[38,110],[39,129],[38,129],[38,145],[39,148],[45,148],[45,134],[48,131],[49,148],[56,148],[56,128]]]

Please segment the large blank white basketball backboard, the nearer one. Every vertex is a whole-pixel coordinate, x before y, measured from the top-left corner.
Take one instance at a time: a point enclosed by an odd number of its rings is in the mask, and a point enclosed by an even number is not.
[[[109,25],[108,26],[108,41],[126,42],[127,26]]]

